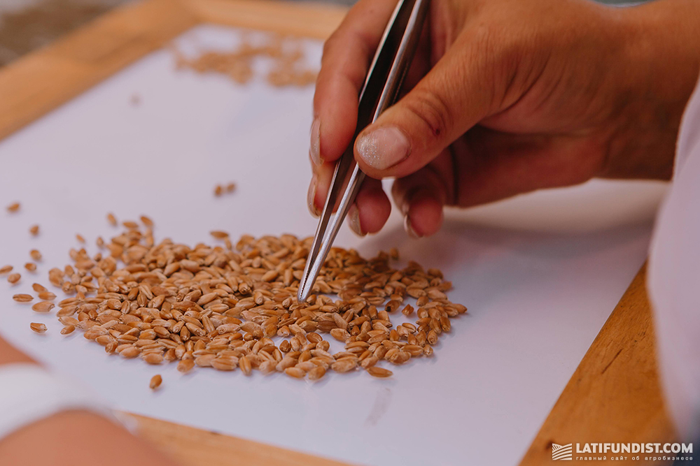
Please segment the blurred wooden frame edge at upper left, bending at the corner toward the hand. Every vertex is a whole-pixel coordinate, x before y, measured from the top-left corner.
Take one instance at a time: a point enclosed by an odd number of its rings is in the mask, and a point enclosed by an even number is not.
[[[270,0],[143,0],[116,8],[0,69],[0,140],[197,24],[325,38],[345,12]]]

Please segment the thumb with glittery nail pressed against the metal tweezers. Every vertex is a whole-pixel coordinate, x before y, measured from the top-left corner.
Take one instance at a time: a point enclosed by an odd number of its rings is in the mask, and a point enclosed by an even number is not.
[[[416,172],[488,116],[494,101],[491,73],[473,47],[451,46],[419,83],[356,139],[355,158],[370,177]]]

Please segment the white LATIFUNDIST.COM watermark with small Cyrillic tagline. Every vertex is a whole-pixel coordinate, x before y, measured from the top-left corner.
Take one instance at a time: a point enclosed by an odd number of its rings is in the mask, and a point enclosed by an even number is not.
[[[566,444],[552,443],[552,460],[633,460],[643,463],[692,460],[693,444]]]

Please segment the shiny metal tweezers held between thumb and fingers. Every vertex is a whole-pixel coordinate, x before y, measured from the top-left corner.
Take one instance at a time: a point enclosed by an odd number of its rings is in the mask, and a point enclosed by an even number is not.
[[[429,0],[400,0],[386,25],[360,92],[355,136],[335,166],[328,198],[299,284],[297,299],[300,303],[311,294],[340,225],[365,179],[365,173],[355,163],[355,139],[396,100],[416,51],[428,5]]]

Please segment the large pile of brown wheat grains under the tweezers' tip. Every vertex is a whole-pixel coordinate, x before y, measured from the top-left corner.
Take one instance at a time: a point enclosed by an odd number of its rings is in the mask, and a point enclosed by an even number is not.
[[[113,215],[108,220],[116,226]],[[332,248],[314,294],[299,303],[311,238],[244,235],[233,245],[227,233],[212,231],[223,245],[189,247],[156,243],[148,217],[123,226],[109,242],[97,239],[102,252],[71,249],[73,263],[50,270],[51,284],[74,295],[58,303],[61,333],[78,328],[107,353],[154,365],[178,361],[181,372],[200,366],[248,375],[257,369],[316,380],[327,370],[363,369],[388,377],[391,371],[379,363],[432,356],[450,318],[466,311],[447,299],[451,284],[440,270],[414,262],[392,268],[395,249],[366,260],[352,249]],[[55,294],[41,284],[34,291],[42,300],[32,309],[50,312]],[[18,302],[33,299],[15,295]],[[394,326],[398,312],[415,323]],[[41,323],[31,328],[45,331]],[[344,349],[331,353],[328,336]]]

